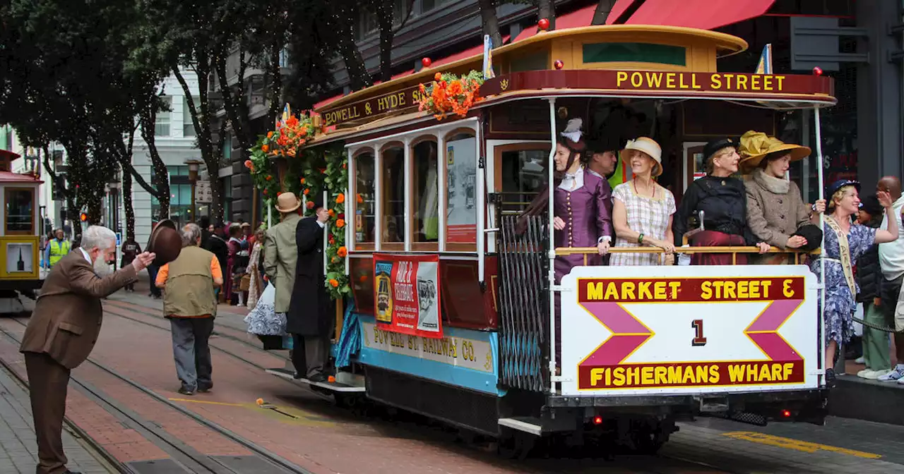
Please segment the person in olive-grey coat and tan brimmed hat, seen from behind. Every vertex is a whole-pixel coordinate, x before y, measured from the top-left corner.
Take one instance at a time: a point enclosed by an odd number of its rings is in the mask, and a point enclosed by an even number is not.
[[[284,192],[277,198],[276,208],[279,211],[281,222],[272,228],[268,228],[264,237],[264,274],[273,285],[273,314],[285,314],[292,302],[292,287],[295,285],[295,270],[298,259],[298,245],[296,232],[301,216],[298,208],[301,207],[295,193]],[[263,296],[263,295],[262,295]],[[304,350],[298,354],[293,349],[290,352],[293,364],[296,356],[304,354]],[[299,361],[303,362],[303,359]],[[305,367],[304,365],[300,367]],[[299,366],[296,365],[296,370]],[[304,372],[302,372],[304,373]],[[296,373],[297,377],[298,374]]]

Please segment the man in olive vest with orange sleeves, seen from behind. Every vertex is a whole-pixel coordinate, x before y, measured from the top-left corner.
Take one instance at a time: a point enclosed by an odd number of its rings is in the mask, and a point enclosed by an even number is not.
[[[201,228],[182,229],[182,252],[160,267],[156,286],[164,290],[164,316],[173,332],[175,372],[182,381],[179,393],[194,395],[213,387],[211,348],[213,318],[217,315],[214,288],[223,283],[220,261],[201,248]]]

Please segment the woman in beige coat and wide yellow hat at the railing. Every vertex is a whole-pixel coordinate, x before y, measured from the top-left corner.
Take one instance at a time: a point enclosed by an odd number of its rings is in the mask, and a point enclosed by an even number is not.
[[[817,200],[811,207],[804,203],[794,181],[785,179],[791,162],[810,154],[799,144],[785,144],[760,132],[741,136],[741,165],[750,172],[747,188],[747,218],[750,230],[770,246],[781,249],[814,246],[806,238],[796,235],[801,227],[819,222],[825,210],[825,200]],[[784,256],[768,258],[764,263],[783,263]]]

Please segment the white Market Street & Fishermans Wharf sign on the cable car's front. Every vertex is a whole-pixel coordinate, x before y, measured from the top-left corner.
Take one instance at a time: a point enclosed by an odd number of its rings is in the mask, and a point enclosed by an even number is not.
[[[817,386],[805,265],[578,266],[561,284],[562,395]]]

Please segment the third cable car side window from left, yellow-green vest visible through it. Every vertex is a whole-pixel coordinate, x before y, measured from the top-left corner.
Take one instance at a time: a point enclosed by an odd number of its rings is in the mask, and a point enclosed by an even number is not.
[[[439,175],[437,142],[428,139],[411,147],[412,242],[439,241]],[[431,249],[436,249],[432,246]]]

